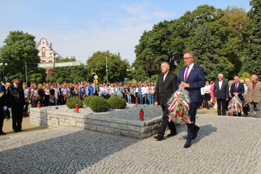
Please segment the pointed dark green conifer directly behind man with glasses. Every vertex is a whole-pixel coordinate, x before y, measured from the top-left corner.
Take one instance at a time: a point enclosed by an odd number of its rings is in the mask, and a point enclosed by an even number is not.
[[[194,53],[194,63],[203,67],[206,80],[216,80],[223,73],[223,65],[215,51],[215,43],[206,24],[191,31],[189,50]]]

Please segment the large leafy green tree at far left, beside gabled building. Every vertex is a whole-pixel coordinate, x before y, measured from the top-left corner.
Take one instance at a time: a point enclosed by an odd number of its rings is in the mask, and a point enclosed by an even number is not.
[[[22,81],[26,81],[26,67],[28,79],[38,79],[37,82],[44,81],[47,74],[45,69],[37,68],[40,63],[38,50],[35,48],[35,36],[23,31],[10,31],[7,38],[3,41],[5,45],[0,50],[0,61],[6,61],[4,73],[7,81],[11,82],[11,78],[20,75]],[[33,76],[36,76],[34,77]],[[1,75],[1,77],[3,77]]]

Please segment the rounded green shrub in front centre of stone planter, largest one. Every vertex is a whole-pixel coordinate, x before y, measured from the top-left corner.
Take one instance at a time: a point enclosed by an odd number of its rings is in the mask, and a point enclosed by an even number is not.
[[[110,108],[110,104],[103,97],[94,96],[89,103],[89,107],[94,112],[106,112]]]

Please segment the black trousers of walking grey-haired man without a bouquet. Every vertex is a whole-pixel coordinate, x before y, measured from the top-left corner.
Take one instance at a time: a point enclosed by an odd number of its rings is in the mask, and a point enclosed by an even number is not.
[[[162,116],[162,122],[161,122],[161,125],[160,125],[160,128],[159,128],[158,136],[160,138],[163,138],[167,126],[171,130],[171,133],[175,133],[175,132],[177,132],[177,130],[176,130],[176,126],[175,126],[174,122],[168,121],[168,107],[167,106],[161,106],[161,108],[162,108],[162,111],[163,111],[163,116]]]

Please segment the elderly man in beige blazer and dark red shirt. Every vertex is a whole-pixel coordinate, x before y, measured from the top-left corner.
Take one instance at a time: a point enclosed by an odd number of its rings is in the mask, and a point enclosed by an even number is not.
[[[261,102],[261,82],[257,80],[257,75],[253,74],[252,82],[247,88],[247,102],[249,102],[249,117],[254,117],[254,107],[256,107],[256,117],[260,118],[260,102]]]

